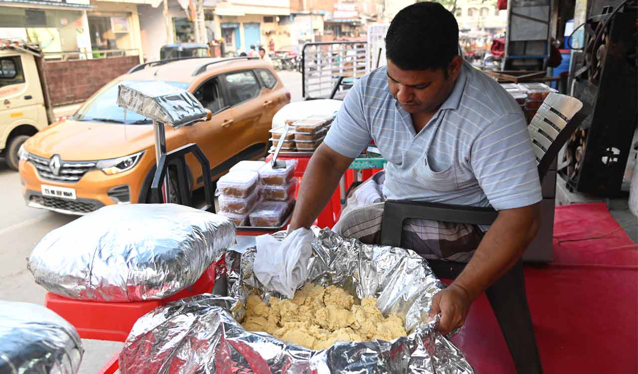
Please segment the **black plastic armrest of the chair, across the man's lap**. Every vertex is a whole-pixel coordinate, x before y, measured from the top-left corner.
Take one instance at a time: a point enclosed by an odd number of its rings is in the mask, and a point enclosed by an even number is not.
[[[491,225],[498,211],[492,207],[471,207],[409,200],[387,200],[383,207],[381,244],[401,245],[403,221],[408,218],[468,225]]]

